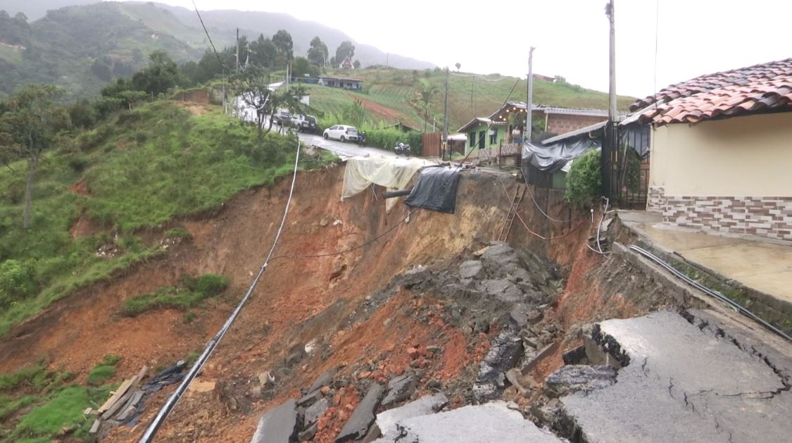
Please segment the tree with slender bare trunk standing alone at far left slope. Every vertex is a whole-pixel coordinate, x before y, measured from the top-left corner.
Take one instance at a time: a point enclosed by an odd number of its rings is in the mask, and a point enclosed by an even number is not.
[[[0,116],[0,151],[4,158],[24,158],[28,162],[25,182],[25,211],[22,227],[30,226],[30,206],[36,166],[41,155],[52,147],[59,130],[70,125],[69,113],[55,101],[63,91],[52,85],[29,85],[10,98]]]

